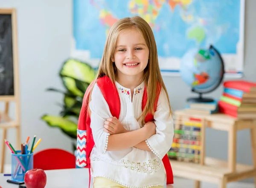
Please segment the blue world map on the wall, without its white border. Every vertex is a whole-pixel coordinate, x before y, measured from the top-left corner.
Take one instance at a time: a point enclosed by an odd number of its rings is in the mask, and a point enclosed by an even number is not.
[[[239,13],[240,0],[73,0],[73,38],[76,50],[100,59],[111,26],[139,15],[154,32],[160,58],[180,59],[210,44],[221,54],[236,54]]]

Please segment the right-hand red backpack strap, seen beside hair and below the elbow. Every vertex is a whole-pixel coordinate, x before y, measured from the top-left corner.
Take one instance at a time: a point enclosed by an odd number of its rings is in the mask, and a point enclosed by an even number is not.
[[[157,96],[156,96],[156,100],[154,103],[154,111],[157,110],[157,103],[158,103],[160,91],[161,91],[161,86],[160,86],[160,84],[158,84],[157,85]],[[142,98],[142,110],[145,108],[147,100],[148,100],[147,88],[145,87],[145,90],[143,93],[143,98]],[[151,113],[148,113],[145,117],[145,122],[149,122],[149,121],[154,121],[154,115]],[[163,157],[162,161],[163,161],[164,168],[166,169],[166,180],[167,180],[166,184],[173,184],[172,166],[170,164],[169,157],[167,156],[167,154]]]

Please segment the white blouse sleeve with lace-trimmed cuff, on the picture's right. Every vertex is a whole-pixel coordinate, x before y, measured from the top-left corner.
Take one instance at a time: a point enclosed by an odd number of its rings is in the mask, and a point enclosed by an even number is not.
[[[169,110],[169,102],[165,91],[162,89],[157,102],[157,110],[154,114],[154,123],[156,125],[156,134],[145,140],[151,151],[160,159],[172,147],[174,137],[173,118]]]

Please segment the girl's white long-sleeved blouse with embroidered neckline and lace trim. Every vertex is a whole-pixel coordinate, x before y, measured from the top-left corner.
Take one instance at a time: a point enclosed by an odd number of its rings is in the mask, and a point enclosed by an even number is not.
[[[142,113],[144,83],[131,90],[116,82],[120,97],[119,121],[126,130],[142,128],[137,118]],[[172,146],[174,127],[169,116],[169,105],[162,89],[154,114],[156,134],[145,140],[151,151],[128,148],[106,151],[109,134],[104,131],[104,121],[113,117],[98,85],[95,84],[90,102],[91,124],[95,145],[90,155],[92,177],[105,177],[128,188],[149,188],[166,184],[166,171],[162,159]]]

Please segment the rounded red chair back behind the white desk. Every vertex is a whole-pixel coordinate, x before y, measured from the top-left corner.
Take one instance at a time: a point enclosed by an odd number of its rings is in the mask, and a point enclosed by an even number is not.
[[[33,167],[43,170],[76,168],[76,156],[62,149],[45,149],[34,154]]]

